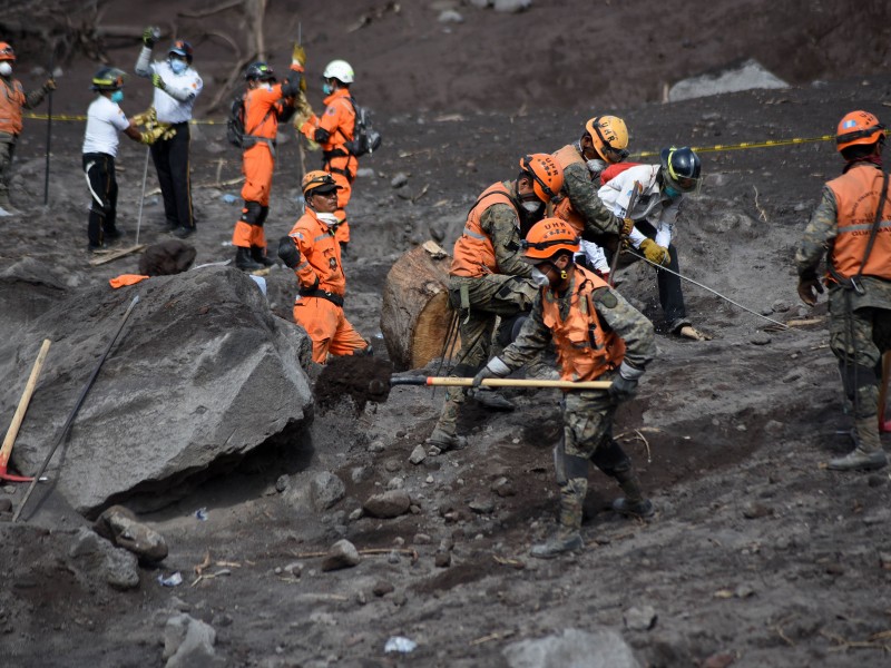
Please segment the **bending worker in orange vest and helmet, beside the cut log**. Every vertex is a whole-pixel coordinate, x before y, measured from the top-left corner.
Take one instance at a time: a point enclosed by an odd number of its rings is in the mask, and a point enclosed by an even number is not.
[[[520,239],[545,217],[546,205],[560,191],[562,183],[562,169],[551,156],[532,154],[520,158],[520,173],[515,180],[489,186],[470,208],[464,230],[454,243],[449,271],[449,299],[458,311],[461,334],[461,350],[450,375],[473,375],[486,363],[498,316],[502,328],[509,328],[517,316],[531,308],[539,285],[546,279],[522,262]],[[466,396],[463,387],[447,390],[439,421],[427,440],[429,444],[442,451],[467,445],[467,439],[457,434],[458,413]],[[495,392],[478,392],[473,399],[487,407],[513,409]]]

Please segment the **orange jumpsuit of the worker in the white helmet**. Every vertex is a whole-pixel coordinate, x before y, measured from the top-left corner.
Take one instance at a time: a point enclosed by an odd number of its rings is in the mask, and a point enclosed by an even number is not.
[[[324,100],[325,111],[321,117],[311,116],[300,131],[309,139],[322,146],[322,169],[331,174],[340,186],[337,190],[337,210],[334,215],[342,223],[335,236],[339,242],[350,240],[350,223],[346,220],[346,205],[353,190],[359,160],[346,150],[346,143],[353,140],[355,128],[355,110],[350,101],[350,90],[339,88]],[[323,130],[319,132],[319,130]]]

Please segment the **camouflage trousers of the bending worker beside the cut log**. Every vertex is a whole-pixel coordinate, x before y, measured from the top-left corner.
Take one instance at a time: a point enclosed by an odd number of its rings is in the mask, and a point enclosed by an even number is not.
[[[462,297],[463,292],[463,297]],[[496,320],[528,312],[538,294],[529,278],[488,274],[479,278],[452,276],[449,298],[458,311],[461,350],[450,377],[473,376],[489,361]],[[464,302],[464,304],[462,304]],[[468,307],[469,306],[469,307]],[[458,414],[467,399],[463,387],[449,387],[437,429],[454,434]]]

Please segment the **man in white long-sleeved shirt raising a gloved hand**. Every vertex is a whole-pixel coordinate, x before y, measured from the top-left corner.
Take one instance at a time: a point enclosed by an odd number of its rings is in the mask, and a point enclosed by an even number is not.
[[[151,159],[158,171],[167,227],[182,239],[195,232],[188,124],[195,99],[200,95],[204,84],[192,68],[192,45],[185,40],[174,41],[165,60],[151,62],[151,49],[157,37],[157,28],[146,28],[135,70],[139,77],[151,79],[155,87],[151,105],[158,122],[169,124],[176,130],[169,138],[161,138],[151,145]]]

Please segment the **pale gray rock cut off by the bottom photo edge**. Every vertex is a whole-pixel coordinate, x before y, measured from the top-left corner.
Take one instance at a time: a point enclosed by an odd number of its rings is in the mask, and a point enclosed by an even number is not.
[[[502,654],[510,668],[640,668],[623,637],[610,629],[566,629],[560,635],[520,640]]]

